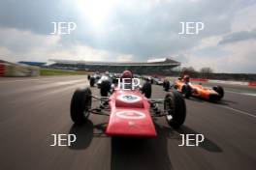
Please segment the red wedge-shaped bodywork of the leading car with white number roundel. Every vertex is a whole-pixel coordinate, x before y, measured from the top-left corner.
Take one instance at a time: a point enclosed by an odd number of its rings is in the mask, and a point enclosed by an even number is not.
[[[109,98],[108,135],[155,137],[150,103],[139,90],[114,90]]]

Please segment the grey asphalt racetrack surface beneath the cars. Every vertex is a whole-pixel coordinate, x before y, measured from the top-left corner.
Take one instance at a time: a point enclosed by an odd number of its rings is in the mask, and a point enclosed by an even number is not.
[[[180,129],[157,118],[157,138],[123,139],[104,134],[105,116],[90,115],[86,125],[73,125],[73,92],[87,85],[85,76],[1,78],[0,169],[255,170],[256,97],[226,89],[218,103],[186,99],[187,118]],[[153,87],[153,98],[164,94]],[[52,133],[78,139],[69,147],[52,147]],[[178,147],[180,134],[198,133],[206,138],[198,147]]]

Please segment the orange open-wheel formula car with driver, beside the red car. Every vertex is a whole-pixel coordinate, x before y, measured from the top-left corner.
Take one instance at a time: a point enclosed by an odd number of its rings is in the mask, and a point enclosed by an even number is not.
[[[201,84],[192,84],[189,81],[188,75],[184,75],[183,78],[178,78],[174,83],[174,88],[181,92],[187,99],[190,97],[198,97],[213,101],[224,97],[224,90],[221,86],[214,86],[210,89]]]

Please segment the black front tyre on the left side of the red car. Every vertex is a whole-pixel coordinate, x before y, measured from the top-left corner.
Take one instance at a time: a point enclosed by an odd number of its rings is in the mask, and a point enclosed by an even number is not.
[[[71,119],[75,124],[82,125],[87,120],[91,100],[91,90],[89,88],[75,91],[70,106]]]

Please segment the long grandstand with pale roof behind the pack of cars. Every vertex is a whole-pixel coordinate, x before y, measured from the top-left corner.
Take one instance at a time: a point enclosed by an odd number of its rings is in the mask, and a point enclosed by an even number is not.
[[[147,62],[91,62],[54,59],[50,59],[48,62],[48,67],[52,69],[111,72],[131,70],[138,74],[172,74],[180,66],[179,62],[170,58],[150,59]]]

